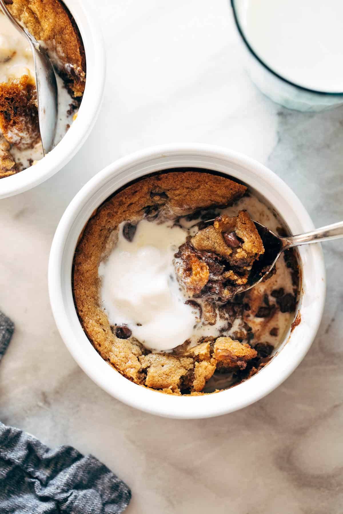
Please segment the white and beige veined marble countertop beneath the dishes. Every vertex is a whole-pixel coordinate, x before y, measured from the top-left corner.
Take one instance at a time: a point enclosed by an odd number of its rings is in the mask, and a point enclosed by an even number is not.
[[[77,366],[53,321],[50,244],[75,193],[111,161],[167,142],[244,152],[295,191],[317,226],[343,218],[343,109],[287,111],[242,68],[225,0],[101,0],[105,99],[87,143],[41,186],[0,201],[0,308],[15,334],[0,419],[93,453],[132,488],[128,514],[342,510],[343,243],[324,245],[327,302],[298,369],[254,405],[179,421],[127,407]]]

